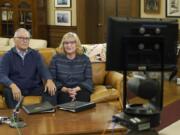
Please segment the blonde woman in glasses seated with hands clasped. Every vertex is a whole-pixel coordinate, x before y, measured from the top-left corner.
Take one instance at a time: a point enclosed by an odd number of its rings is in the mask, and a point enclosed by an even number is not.
[[[51,61],[50,72],[58,88],[58,104],[90,101],[93,90],[91,63],[83,54],[75,33],[68,32],[63,36],[58,53]]]

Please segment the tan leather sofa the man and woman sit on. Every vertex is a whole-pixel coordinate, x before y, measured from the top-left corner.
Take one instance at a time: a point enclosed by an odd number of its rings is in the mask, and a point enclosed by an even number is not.
[[[91,46],[95,48],[96,46]],[[99,46],[97,47],[99,48]],[[102,48],[98,49],[101,53]],[[95,52],[97,52],[96,50]],[[42,55],[45,63],[48,65],[52,59],[52,57],[56,54],[56,49],[54,48],[43,48],[38,50]],[[92,48],[90,49],[92,52]],[[90,54],[91,52],[86,51],[86,54]],[[0,56],[2,56],[5,52],[0,51]],[[95,53],[93,53],[95,54]],[[98,55],[98,57],[95,57]],[[94,57],[91,55],[92,62],[92,74],[93,74],[93,83],[94,83],[94,92],[91,95],[91,101],[100,103],[107,102],[111,105],[116,106],[118,109],[122,108],[122,88],[123,88],[123,75],[114,72],[114,71],[106,71],[105,69],[105,59],[99,59],[99,54],[95,54]],[[104,55],[103,55],[104,56]],[[99,61],[98,61],[99,60]],[[107,87],[111,86],[111,87]],[[4,98],[2,96],[3,86],[0,85],[0,108],[6,108],[6,104],[4,102]],[[40,96],[27,96],[24,98],[23,104],[33,104],[39,103],[41,101]]]

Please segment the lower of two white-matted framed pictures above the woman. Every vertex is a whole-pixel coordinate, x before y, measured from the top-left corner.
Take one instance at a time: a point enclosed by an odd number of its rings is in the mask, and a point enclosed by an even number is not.
[[[71,26],[71,11],[55,11],[55,24],[60,26]]]

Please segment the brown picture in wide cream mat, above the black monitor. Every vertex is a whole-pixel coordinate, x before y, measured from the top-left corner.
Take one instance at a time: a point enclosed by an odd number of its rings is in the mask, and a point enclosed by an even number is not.
[[[159,14],[161,0],[144,0],[144,13]]]

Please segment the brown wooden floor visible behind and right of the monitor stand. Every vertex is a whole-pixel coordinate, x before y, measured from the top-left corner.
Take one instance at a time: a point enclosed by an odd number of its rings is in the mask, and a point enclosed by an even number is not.
[[[175,81],[164,81],[163,91],[163,106],[175,102],[180,99],[180,85],[177,85]],[[142,103],[143,100],[137,97],[132,98],[130,102]]]

